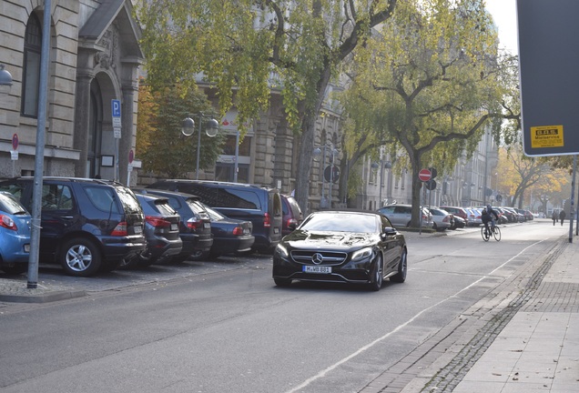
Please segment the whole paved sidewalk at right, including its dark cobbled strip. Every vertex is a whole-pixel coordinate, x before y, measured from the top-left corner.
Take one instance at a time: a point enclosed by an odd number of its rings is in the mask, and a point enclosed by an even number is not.
[[[578,242],[562,238],[361,393],[579,391]]]

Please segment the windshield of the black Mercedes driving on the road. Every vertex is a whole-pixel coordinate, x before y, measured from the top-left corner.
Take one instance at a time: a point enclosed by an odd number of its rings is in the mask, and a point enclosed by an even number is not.
[[[313,213],[300,226],[301,230],[331,232],[378,232],[378,220],[373,215],[356,213]]]

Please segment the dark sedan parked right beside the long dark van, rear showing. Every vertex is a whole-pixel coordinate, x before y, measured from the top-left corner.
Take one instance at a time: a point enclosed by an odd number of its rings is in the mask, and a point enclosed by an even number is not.
[[[251,250],[255,237],[251,234],[251,221],[225,217],[212,207],[204,205],[211,219],[213,246],[208,253],[210,259],[224,254],[239,254]]]

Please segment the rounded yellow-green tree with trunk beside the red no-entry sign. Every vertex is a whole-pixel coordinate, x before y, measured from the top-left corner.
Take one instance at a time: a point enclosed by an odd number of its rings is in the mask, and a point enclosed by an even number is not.
[[[472,155],[487,129],[495,140],[513,139],[516,58],[497,44],[482,0],[407,0],[351,63],[348,94],[357,107],[371,105],[373,116],[359,121],[348,146],[369,141],[365,134],[373,129],[374,143],[411,168],[413,227],[420,220],[422,167],[450,172],[463,151]],[[514,122],[510,133],[503,119]]]

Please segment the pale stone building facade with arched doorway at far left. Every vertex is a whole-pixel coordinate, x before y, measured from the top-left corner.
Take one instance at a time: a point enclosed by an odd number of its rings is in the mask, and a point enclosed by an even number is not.
[[[34,174],[44,5],[43,0],[0,0],[0,64],[13,77],[9,93],[0,95],[0,177]],[[98,175],[125,182],[143,60],[131,13],[126,0],[51,2],[46,176]],[[120,104],[117,130],[113,100]],[[16,160],[10,153],[14,136]]]

